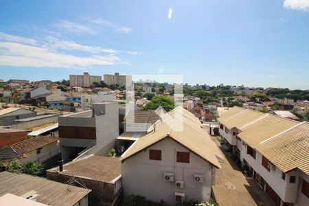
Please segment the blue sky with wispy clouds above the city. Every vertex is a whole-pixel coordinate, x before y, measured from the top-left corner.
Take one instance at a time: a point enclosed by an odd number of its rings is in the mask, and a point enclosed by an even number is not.
[[[309,89],[309,0],[1,1],[0,71]]]

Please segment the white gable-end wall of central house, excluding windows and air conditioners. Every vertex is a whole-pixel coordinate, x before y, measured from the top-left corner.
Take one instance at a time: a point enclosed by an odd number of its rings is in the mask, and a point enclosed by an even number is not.
[[[149,160],[149,149],[162,151],[162,160]],[[184,192],[185,200],[209,201],[211,192],[211,178],[214,169],[200,157],[190,152],[190,163],[177,163],[176,151],[188,152],[186,148],[172,139],[165,139],[154,146],[130,157],[122,163],[122,184],[124,196],[130,194],[146,196],[146,198],[160,202],[175,204],[175,192]],[[164,172],[174,173],[174,181],[165,181]],[[203,174],[204,183],[194,181],[194,174]],[[184,181],[184,188],[175,187],[175,180]]]

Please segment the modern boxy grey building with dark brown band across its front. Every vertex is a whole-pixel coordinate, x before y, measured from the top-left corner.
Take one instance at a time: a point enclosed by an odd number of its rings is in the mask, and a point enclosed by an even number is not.
[[[67,162],[86,150],[106,154],[115,146],[119,135],[118,105],[102,102],[92,110],[58,118],[62,159]]]

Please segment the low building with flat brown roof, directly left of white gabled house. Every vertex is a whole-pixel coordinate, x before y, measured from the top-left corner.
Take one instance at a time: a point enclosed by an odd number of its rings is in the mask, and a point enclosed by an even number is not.
[[[121,162],[118,158],[88,155],[66,163],[62,169],[47,170],[46,174],[49,180],[67,183],[74,179],[75,185],[90,189],[90,205],[119,205],[121,201]]]

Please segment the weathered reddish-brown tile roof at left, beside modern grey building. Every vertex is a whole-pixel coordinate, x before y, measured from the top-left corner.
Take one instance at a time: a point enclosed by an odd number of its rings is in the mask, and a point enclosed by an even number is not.
[[[25,139],[23,141],[20,141],[10,146],[10,148],[12,148],[12,150],[14,150],[16,154],[25,155],[29,152],[32,152],[33,150],[42,148],[43,146],[46,146],[47,144],[51,144],[52,142],[55,142],[57,140],[58,140],[58,137],[38,136],[38,137],[33,137],[30,139]]]

